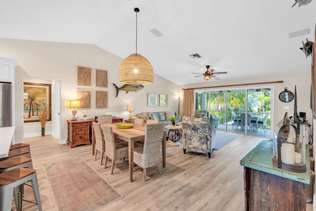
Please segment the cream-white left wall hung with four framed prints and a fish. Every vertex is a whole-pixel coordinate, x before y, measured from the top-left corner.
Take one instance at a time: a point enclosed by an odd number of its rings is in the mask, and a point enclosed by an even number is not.
[[[77,98],[77,88],[92,90],[92,109],[87,109],[88,118],[94,118],[105,112],[117,112],[120,117],[127,118],[127,104],[135,105],[135,113],[178,110],[176,95],[179,94],[179,86],[157,75],[154,84],[145,85],[145,88],[137,93],[125,94],[124,91],[120,91],[116,98],[116,90],[112,83],[117,84],[118,87],[123,85],[118,79],[118,68],[123,59],[93,44],[0,39],[0,46],[0,55],[17,59],[20,67],[31,78],[61,81],[61,139],[63,140],[67,139],[66,120],[72,118],[71,109],[67,108],[66,101]],[[150,58],[148,59],[150,61]],[[77,85],[77,65],[93,68],[92,86]],[[95,68],[108,70],[108,88],[95,87]],[[109,91],[108,109],[94,108],[94,90]],[[168,106],[147,107],[147,93],[168,94]],[[23,90],[20,94],[23,96]],[[17,109],[20,106],[21,111],[23,110],[23,104],[16,106]],[[78,113],[82,115],[80,110]],[[23,121],[22,116],[19,121]]]

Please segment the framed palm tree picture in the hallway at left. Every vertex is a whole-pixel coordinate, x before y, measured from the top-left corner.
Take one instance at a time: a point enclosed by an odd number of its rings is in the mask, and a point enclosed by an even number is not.
[[[51,108],[51,84],[24,83],[24,122],[40,122],[39,115]],[[51,114],[47,121],[51,121]]]

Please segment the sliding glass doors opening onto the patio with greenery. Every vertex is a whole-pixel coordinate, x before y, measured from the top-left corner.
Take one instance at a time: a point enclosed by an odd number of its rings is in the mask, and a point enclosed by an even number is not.
[[[270,137],[272,88],[196,92],[196,110],[206,110],[218,130]]]

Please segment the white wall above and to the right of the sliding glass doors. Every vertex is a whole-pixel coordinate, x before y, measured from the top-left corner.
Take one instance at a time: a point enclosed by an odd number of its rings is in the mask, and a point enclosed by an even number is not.
[[[294,86],[296,85],[297,89],[297,110],[298,112],[306,112],[307,120],[312,124],[312,110],[310,108],[310,94],[311,94],[311,84],[312,84],[312,75],[311,71],[302,72],[297,74],[287,74],[287,75],[273,75],[268,77],[260,78],[251,78],[243,80],[231,80],[231,81],[216,81],[208,82],[202,84],[186,84],[182,85],[181,88],[191,88],[191,87],[204,87],[204,86],[217,86],[217,85],[228,85],[228,84],[247,84],[247,83],[258,83],[258,82],[271,82],[271,81],[283,81],[282,84],[262,84],[274,85],[275,87],[275,96],[274,96],[274,109],[275,109],[275,118],[274,118],[274,130],[278,131],[276,124],[283,119],[285,112],[288,112],[289,116],[293,116],[294,112],[294,100],[288,103],[284,103],[278,99],[278,95],[281,91],[284,91],[284,87],[287,87],[289,91],[294,93]],[[248,85],[248,87],[254,87],[260,85]],[[247,86],[233,86],[236,87],[247,87]],[[219,89],[219,88],[213,88]],[[225,87],[223,87],[225,89]],[[198,89],[197,89],[198,90]],[[289,106],[289,110],[283,109],[283,106]]]

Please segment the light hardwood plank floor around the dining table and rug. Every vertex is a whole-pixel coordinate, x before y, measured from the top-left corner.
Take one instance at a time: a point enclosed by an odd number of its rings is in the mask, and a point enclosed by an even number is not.
[[[55,211],[54,202],[43,172],[42,164],[82,157],[98,171],[124,198],[102,210],[208,210],[243,211],[243,167],[239,161],[263,138],[245,136],[220,150],[207,155],[183,154],[181,147],[167,144],[166,167],[158,174],[158,166],[147,169],[143,181],[142,169],[134,170],[134,181],[129,182],[128,162],[116,162],[114,174],[100,166],[100,155],[93,161],[91,145],[59,145],[52,136],[25,138],[31,145],[33,166],[37,170],[40,197],[44,211]],[[29,194],[29,198],[32,194]],[[89,197],[89,196],[87,196]],[[34,205],[23,203],[23,210]],[[311,203],[308,211],[313,210]],[[13,210],[13,209],[12,209]]]

